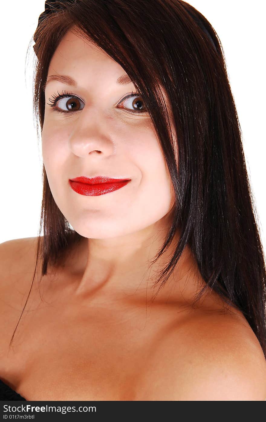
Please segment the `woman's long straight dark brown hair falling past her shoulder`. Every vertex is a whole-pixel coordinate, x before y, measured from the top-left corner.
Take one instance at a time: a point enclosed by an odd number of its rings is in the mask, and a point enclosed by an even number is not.
[[[56,10],[44,16],[33,37],[37,57],[34,111],[41,130],[48,66],[62,36],[71,29],[105,51],[130,76],[161,144],[175,205],[172,225],[153,262],[177,230],[180,238],[155,282],[158,291],[185,246],[190,246],[206,282],[195,300],[210,287],[239,309],[266,356],[265,261],[241,128],[218,35],[199,11],[178,0],[55,3]],[[43,166],[35,271],[39,255],[45,275],[48,264],[57,265],[81,238],[56,206]]]

